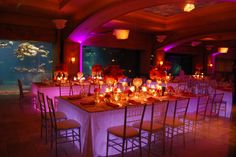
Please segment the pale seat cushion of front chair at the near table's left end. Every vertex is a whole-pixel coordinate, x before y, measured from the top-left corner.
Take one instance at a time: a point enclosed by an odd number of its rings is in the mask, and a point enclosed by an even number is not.
[[[76,129],[79,127],[80,127],[79,122],[72,119],[57,122],[58,130]]]

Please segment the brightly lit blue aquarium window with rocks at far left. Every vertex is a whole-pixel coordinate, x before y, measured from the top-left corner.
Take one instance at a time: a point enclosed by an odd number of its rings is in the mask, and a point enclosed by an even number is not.
[[[0,40],[0,87],[52,78],[52,43]],[[1,89],[1,88],[0,88]]]

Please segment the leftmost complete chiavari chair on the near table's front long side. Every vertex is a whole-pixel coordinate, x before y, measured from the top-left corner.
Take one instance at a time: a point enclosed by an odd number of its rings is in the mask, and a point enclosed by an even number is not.
[[[142,156],[141,126],[145,109],[146,105],[125,107],[123,125],[113,126],[107,129],[106,156],[108,156],[109,147],[119,151],[122,157],[129,149],[133,150],[134,147],[138,147],[140,156]],[[136,122],[139,122],[138,129],[133,127],[133,124]],[[128,146],[128,143],[131,143],[131,147]]]

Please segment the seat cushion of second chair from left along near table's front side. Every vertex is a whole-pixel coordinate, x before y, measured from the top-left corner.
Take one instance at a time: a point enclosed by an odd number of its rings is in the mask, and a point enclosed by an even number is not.
[[[140,123],[139,122],[134,123],[133,126],[135,128],[139,128]],[[163,128],[162,124],[154,122],[153,126],[152,126],[152,130],[151,130],[151,121],[143,121],[142,130],[144,130],[144,131],[148,131],[148,132],[153,131],[153,132],[155,132],[155,131],[161,130],[162,128]]]

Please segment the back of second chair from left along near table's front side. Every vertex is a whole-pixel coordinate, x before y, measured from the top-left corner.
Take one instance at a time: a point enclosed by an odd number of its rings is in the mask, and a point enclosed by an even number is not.
[[[165,126],[169,101],[156,101],[152,104],[151,110],[151,130],[154,123]]]

